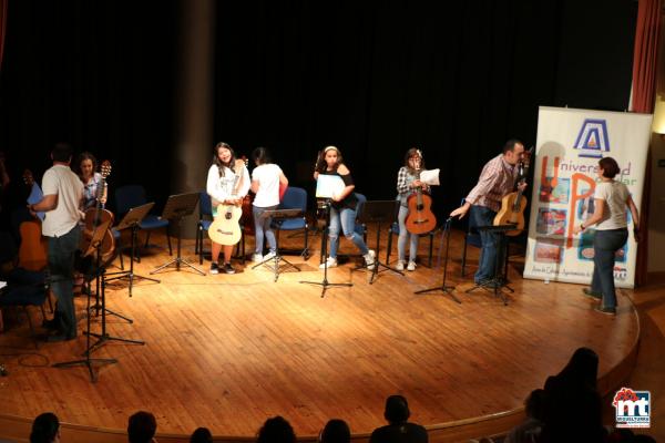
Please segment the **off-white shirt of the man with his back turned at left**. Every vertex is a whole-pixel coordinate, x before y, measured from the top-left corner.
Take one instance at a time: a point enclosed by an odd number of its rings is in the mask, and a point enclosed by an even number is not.
[[[58,195],[55,208],[47,213],[42,223],[42,234],[61,237],[72,230],[81,218],[79,204],[83,196],[83,183],[69,166],[54,165],[44,173],[42,193]]]

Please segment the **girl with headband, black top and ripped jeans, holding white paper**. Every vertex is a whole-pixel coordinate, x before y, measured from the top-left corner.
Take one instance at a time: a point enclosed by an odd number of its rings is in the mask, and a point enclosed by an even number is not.
[[[316,167],[314,171],[314,179],[318,179],[320,175],[337,175],[344,182],[344,189],[341,193],[332,196],[330,202],[330,225],[329,225],[329,238],[330,238],[330,255],[327,262],[321,264],[320,268],[325,266],[334,268],[337,266],[337,248],[339,247],[339,231],[344,233],[344,236],[349,240],[354,241],[354,245],[362,254],[365,264],[368,269],[374,269],[376,254],[374,250],[368,249],[362,236],[356,233],[356,205],[358,199],[354,194],[354,178],[351,172],[344,164],[341,158],[341,152],[335,146],[326,147],[318,156]]]

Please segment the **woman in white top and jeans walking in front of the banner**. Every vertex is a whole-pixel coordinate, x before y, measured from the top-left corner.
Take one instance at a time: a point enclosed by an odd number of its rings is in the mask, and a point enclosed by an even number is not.
[[[637,239],[637,226],[640,216],[637,207],[628,193],[628,188],[614,177],[621,172],[618,164],[612,157],[601,158],[597,175],[600,183],[594,192],[593,216],[575,227],[579,234],[596,225],[593,237],[593,278],[591,289],[583,291],[590,297],[601,299],[601,306],[596,311],[607,315],[616,313],[616,293],[614,291],[614,256],[624,247],[628,239],[628,222],[626,208],[631,210],[635,239]]]

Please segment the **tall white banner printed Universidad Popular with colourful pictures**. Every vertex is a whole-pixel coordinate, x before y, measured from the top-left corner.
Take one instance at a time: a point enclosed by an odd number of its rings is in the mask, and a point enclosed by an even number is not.
[[[524,278],[591,282],[595,230],[574,235],[573,228],[594,212],[598,159],[616,159],[614,179],[626,184],[640,208],[651,124],[651,114],[540,107]],[[631,235],[614,265],[620,288],[635,281],[632,227],[628,212]]]

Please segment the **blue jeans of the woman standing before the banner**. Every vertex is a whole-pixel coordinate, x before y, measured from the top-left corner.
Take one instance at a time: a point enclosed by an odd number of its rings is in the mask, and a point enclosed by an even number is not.
[[[593,277],[591,290],[602,293],[602,308],[616,308],[614,254],[628,239],[628,229],[596,230],[593,236]]]

